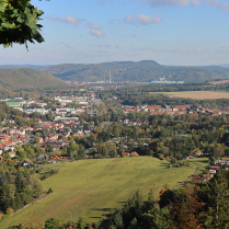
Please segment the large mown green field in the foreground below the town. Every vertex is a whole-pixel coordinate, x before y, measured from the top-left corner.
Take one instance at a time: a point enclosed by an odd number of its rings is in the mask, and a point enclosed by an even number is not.
[[[85,216],[93,222],[121,207],[138,188],[148,196],[154,182],[160,190],[185,180],[195,168],[171,168],[151,157],[82,160],[67,163],[57,175],[43,182],[54,193],[0,222],[0,228],[28,222],[45,221],[50,217],[76,220]],[[32,216],[30,218],[28,216]]]

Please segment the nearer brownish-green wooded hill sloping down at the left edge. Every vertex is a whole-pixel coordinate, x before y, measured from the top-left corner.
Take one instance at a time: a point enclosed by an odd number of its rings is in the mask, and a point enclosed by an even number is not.
[[[68,85],[60,79],[34,69],[0,69],[0,91],[42,91],[65,89]]]

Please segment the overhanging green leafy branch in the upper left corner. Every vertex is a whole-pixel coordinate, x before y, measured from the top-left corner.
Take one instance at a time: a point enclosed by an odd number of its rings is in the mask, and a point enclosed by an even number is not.
[[[4,47],[13,43],[25,44],[44,42],[37,22],[43,11],[30,3],[31,0],[0,0],[0,44]]]

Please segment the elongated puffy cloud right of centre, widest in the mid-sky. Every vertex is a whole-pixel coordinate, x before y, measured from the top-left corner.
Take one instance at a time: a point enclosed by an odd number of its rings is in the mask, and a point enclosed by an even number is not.
[[[136,16],[127,15],[124,21],[126,23],[134,23],[134,24],[138,23],[138,24],[148,25],[151,23],[160,23],[162,19],[157,13],[154,13],[153,16],[138,13]]]

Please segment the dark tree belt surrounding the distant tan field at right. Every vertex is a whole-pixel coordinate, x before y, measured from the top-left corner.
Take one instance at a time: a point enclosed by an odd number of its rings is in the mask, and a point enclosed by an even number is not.
[[[118,102],[123,105],[184,105],[184,104],[199,104],[207,106],[229,106],[229,100],[193,100],[184,98],[170,98],[162,95],[159,92],[179,92],[179,91],[229,91],[228,84],[209,85],[207,83],[190,83],[176,85],[128,85],[117,90],[110,90],[98,92],[98,95],[110,103],[110,99],[116,96]],[[157,93],[154,93],[157,92]]]

